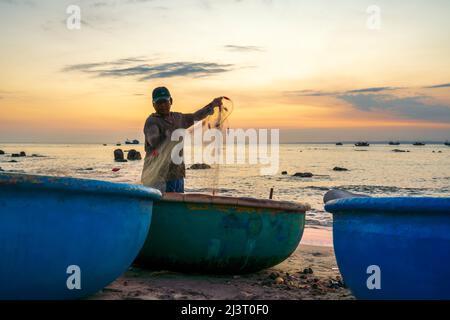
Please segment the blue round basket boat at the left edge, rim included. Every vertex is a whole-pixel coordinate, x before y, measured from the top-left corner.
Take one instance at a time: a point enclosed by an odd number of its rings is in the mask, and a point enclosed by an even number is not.
[[[76,299],[102,289],[133,262],[160,197],[136,185],[0,174],[0,299]],[[78,273],[70,266],[79,267],[80,290],[67,286]]]

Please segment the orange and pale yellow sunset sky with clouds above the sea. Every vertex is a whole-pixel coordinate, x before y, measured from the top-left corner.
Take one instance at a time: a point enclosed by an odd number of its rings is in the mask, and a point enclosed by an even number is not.
[[[450,140],[449,14],[448,0],[0,0],[0,142],[142,139],[161,85],[180,112],[229,96],[232,127],[283,142]]]

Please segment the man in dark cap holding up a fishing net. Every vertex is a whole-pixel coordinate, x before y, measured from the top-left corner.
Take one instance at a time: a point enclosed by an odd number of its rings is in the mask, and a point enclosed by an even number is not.
[[[195,121],[212,115],[214,108],[222,106],[223,97],[214,99],[195,113],[171,112],[173,99],[166,87],[154,89],[152,98],[156,113],[147,118],[144,126],[146,156],[142,183],[161,192],[183,193],[186,168],[184,162],[175,164],[170,157],[172,132],[187,129]],[[180,153],[182,154],[182,150]]]

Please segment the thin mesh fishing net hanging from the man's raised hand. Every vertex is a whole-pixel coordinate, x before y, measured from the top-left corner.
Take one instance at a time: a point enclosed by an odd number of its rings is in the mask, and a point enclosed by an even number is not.
[[[147,154],[141,176],[142,183],[165,191],[165,182],[168,180],[169,171],[172,170],[171,163],[174,161],[173,154],[179,153],[184,155],[187,168],[208,167],[206,170],[196,171],[195,174],[201,176],[201,179],[196,180],[201,186],[195,186],[195,188],[216,194],[219,187],[220,167],[224,162],[224,141],[229,129],[229,117],[233,110],[233,101],[223,97],[222,105],[214,108],[213,114],[186,130],[183,142],[185,149],[189,152],[181,151],[180,142],[171,141],[169,138],[151,154]],[[199,133],[200,141],[196,139]]]

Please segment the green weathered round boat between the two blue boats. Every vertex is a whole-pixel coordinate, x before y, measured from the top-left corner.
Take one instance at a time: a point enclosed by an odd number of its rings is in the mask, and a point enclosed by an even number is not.
[[[136,263],[154,270],[239,274],[279,264],[297,248],[308,205],[164,195]]]

